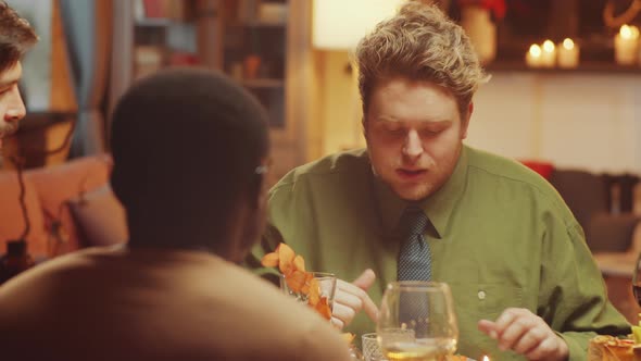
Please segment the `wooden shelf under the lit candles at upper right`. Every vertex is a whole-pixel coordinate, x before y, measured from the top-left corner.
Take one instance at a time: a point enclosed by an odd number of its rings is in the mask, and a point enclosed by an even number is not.
[[[488,73],[501,73],[501,72],[524,72],[524,73],[540,73],[540,74],[577,74],[577,73],[591,73],[591,74],[640,74],[641,66],[623,66],[617,65],[614,62],[581,62],[576,69],[561,69],[561,67],[529,67],[525,64],[525,61],[495,61],[486,65]]]

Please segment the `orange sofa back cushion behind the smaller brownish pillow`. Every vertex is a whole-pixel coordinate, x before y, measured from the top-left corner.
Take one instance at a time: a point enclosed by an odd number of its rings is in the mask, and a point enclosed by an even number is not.
[[[51,256],[66,253],[81,247],[83,240],[79,239],[66,201],[104,186],[109,179],[111,164],[109,155],[100,154],[27,171],[27,177],[36,186],[42,204],[46,228],[50,234],[55,235],[55,225],[60,224],[62,227],[63,241],[54,242]]]

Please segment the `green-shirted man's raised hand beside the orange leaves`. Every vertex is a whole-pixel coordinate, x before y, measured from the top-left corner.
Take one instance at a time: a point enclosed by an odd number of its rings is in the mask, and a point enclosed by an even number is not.
[[[331,312],[334,325],[342,329],[361,310],[365,310],[369,319],[376,322],[378,308],[367,295],[367,289],[372,287],[375,279],[376,275],[372,270],[365,270],[353,283],[338,279]]]

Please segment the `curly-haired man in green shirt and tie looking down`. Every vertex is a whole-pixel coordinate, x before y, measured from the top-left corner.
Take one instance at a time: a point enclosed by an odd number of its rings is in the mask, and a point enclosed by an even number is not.
[[[339,283],[334,318],[359,334],[374,331],[387,283],[407,279],[407,269],[426,279],[427,269],[451,286],[457,352],[474,359],[582,360],[598,333],[628,333],[558,194],[525,166],[463,145],[487,76],[461,27],[409,2],[356,57],[367,150],[286,175],[250,264],[285,241],[307,270],[357,278]],[[410,256],[409,207],[428,220]]]

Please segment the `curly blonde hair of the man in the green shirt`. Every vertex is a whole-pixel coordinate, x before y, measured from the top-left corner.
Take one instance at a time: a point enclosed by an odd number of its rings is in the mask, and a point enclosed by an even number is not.
[[[407,1],[365,36],[356,48],[356,62],[364,114],[379,80],[403,76],[449,89],[464,116],[479,84],[489,78],[463,28],[437,5],[418,1]]]

